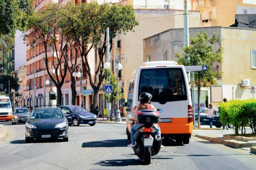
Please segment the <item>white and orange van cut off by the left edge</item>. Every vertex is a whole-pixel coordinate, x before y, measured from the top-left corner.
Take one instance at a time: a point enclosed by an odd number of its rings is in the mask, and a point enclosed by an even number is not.
[[[12,120],[12,104],[7,96],[0,96],[0,120]]]

